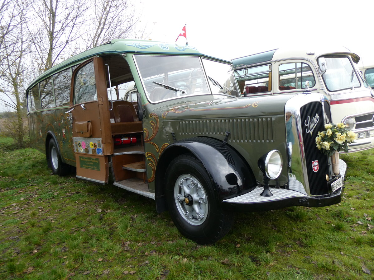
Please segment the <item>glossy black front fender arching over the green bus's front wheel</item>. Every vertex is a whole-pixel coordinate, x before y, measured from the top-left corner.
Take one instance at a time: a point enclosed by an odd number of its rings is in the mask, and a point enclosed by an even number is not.
[[[256,187],[249,165],[231,146],[205,137],[186,139],[170,144],[163,151],[157,164],[155,193],[158,211],[165,203],[161,201],[164,197],[163,182],[167,165],[183,153],[192,153],[202,163],[215,187],[215,196],[219,201],[243,195]],[[161,205],[157,202],[158,199]]]

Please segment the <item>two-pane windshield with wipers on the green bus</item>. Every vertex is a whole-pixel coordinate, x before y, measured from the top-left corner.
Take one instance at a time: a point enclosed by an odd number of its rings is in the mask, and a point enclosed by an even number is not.
[[[141,55],[134,57],[145,93],[151,102],[211,94],[199,57]],[[230,64],[204,60],[204,66],[207,75],[211,75],[211,78],[217,82],[212,84],[209,80],[212,93],[236,94],[235,80],[230,79],[230,76],[232,77],[232,74],[229,74]],[[226,80],[223,80],[224,77]],[[220,84],[223,89],[218,88],[217,84]]]

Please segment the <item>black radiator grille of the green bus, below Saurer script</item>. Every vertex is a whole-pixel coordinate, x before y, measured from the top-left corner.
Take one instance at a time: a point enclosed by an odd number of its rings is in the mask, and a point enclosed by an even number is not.
[[[327,104],[327,102],[324,102]],[[329,106],[325,104],[325,113],[331,119]],[[327,110],[328,109],[328,110]],[[314,116],[319,116],[319,121],[312,133],[307,132],[307,127],[304,122],[308,119],[312,119]],[[303,146],[305,151],[306,169],[309,180],[309,189],[311,195],[324,195],[329,193],[328,185],[326,181],[326,175],[329,174],[328,157],[323,155],[316,147],[315,139],[319,131],[325,130],[324,113],[322,110],[322,104],[320,102],[311,102],[300,109],[301,116],[301,127],[303,135]],[[313,171],[313,161],[318,161],[319,169],[317,172]]]

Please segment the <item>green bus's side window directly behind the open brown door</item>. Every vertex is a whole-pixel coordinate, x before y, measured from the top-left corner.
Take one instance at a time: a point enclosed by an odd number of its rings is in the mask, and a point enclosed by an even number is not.
[[[70,81],[71,81],[70,68],[53,75],[53,85],[55,87],[55,97],[56,97],[57,107],[69,105]]]

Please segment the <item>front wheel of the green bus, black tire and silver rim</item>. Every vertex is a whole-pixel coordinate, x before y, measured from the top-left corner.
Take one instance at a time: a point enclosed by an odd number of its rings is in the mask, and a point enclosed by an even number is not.
[[[227,234],[233,213],[221,209],[209,174],[198,159],[191,154],[173,159],[165,182],[170,215],[184,236],[199,244],[210,244]]]

